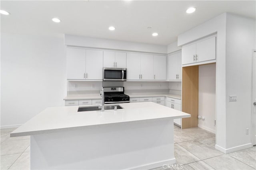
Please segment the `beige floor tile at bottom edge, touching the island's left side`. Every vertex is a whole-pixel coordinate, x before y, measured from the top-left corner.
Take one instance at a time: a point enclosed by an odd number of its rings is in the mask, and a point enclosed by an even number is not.
[[[29,170],[30,169],[30,152],[24,152],[12,164],[9,170]]]

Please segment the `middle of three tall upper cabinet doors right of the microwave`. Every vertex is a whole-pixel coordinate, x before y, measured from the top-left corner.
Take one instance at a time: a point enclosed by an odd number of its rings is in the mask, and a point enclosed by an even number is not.
[[[140,74],[142,80],[153,80],[153,55],[141,54],[140,55]]]

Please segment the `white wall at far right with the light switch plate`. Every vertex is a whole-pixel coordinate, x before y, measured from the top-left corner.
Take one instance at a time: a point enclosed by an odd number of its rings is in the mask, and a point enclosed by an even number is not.
[[[227,14],[226,95],[237,95],[237,102],[226,104],[226,145],[250,145],[252,50],[255,49],[255,20]]]

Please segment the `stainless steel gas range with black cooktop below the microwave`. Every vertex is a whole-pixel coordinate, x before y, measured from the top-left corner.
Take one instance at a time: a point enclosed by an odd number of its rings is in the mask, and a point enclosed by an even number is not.
[[[124,94],[124,87],[104,87],[105,104],[129,103],[130,97]]]

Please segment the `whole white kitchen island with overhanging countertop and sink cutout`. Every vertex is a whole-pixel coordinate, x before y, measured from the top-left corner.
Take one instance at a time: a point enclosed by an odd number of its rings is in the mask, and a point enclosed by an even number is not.
[[[103,112],[48,107],[11,137],[31,135],[31,169],[151,169],[174,164],[173,119],[190,114],[153,102],[118,105],[123,109]]]

